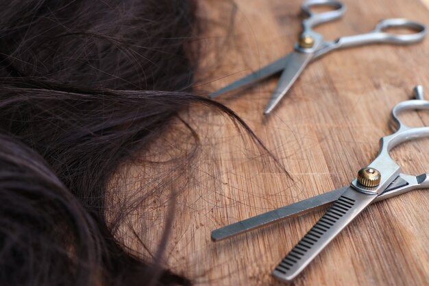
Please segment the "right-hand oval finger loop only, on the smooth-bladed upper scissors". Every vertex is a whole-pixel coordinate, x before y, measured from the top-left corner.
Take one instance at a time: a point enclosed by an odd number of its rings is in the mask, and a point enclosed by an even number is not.
[[[406,28],[415,31],[413,34],[392,34],[384,32],[385,29],[389,28]],[[380,21],[376,29],[373,30],[373,34],[378,34],[380,40],[384,43],[393,44],[405,44],[405,43],[416,43],[422,40],[428,33],[428,29],[425,25],[411,21],[408,19],[386,19]]]

